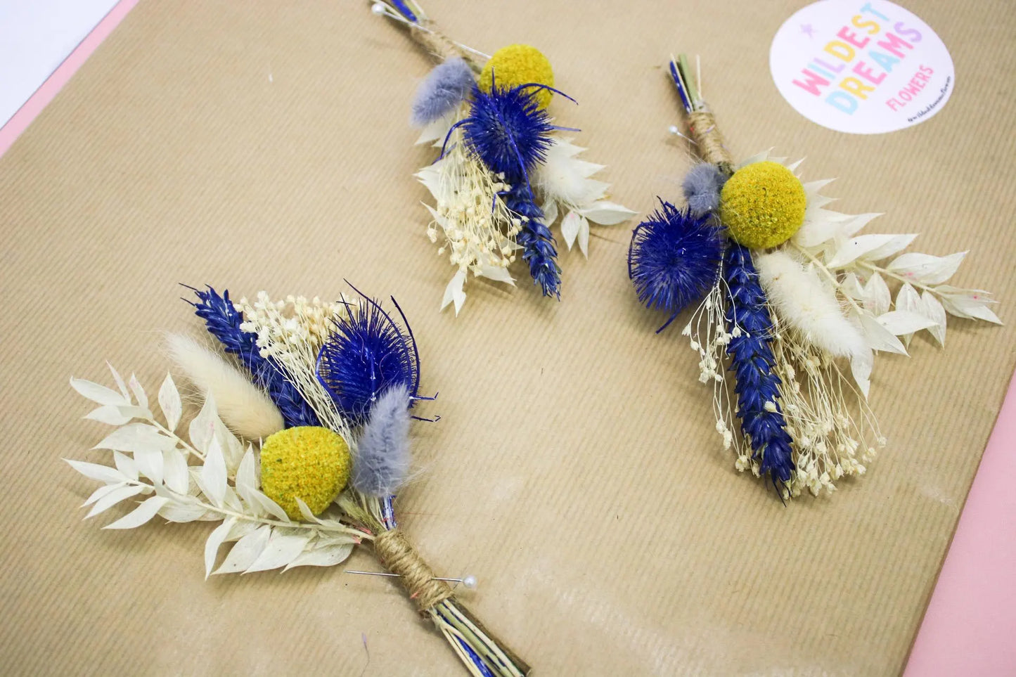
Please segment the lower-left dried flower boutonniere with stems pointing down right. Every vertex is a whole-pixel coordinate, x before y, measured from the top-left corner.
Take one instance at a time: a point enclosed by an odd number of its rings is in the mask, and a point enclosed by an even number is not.
[[[85,418],[116,427],[94,446],[110,464],[68,460],[103,483],[84,502],[87,517],[141,497],[105,529],[156,515],[219,522],[204,546],[205,577],[333,566],[369,545],[382,575],[400,578],[471,675],[527,674],[447,582],[471,589],[475,578],[436,577],[398,529],[394,499],[410,471],[411,410],[431,397],[419,394],[417,344],[395,300],[397,315],[359,292],[334,303],[273,301],[264,292],[234,303],[210,287],[193,292],[218,348],[168,336],[178,373],[203,397],[186,437],[172,375],[158,389],[161,416],[138,380],[125,382],[112,366],[114,388],[71,379],[99,405]]]

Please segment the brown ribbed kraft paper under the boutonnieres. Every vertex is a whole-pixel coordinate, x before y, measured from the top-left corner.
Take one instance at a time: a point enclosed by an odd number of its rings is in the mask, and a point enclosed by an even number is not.
[[[839,208],[887,212],[873,232],[969,249],[956,282],[1011,320],[1016,13],[910,3],[955,94],[920,125],[850,136],[771,81],[769,42],[801,4],[427,3],[484,51],[543,49],[580,103],[556,100],[559,123],[642,211],[679,198],[690,162],[661,65],[701,55],[736,156],[807,156],[808,179],[840,177]],[[101,531],[111,515],[78,509],[92,483],[60,459],[105,457],[71,374],[107,382],[109,359],[153,392],[158,331],[200,331],[177,283],[334,298],[345,278],[398,298],[441,391],[441,422],[415,425],[403,525],[439,571],[479,577],[467,604],[537,674],[899,672],[1013,371],[1011,325],[950,318],[944,352],[920,337],[881,357],[890,446],[831,499],[784,507],[717,448],[685,341],[653,333],[625,269],[633,224],[594,227],[588,261],[562,254],[561,303],[479,283],[462,316],[437,312],[452,268],[410,176],[434,153],[406,124],[429,65],[355,0],[142,2],[0,160],[3,671],[464,674],[391,581],[205,581],[209,525]]]

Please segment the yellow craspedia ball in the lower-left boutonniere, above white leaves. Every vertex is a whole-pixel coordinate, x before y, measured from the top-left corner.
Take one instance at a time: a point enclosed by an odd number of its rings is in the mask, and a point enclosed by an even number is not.
[[[345,488],[350,465],[345,440],[327,428],[279,430],[261,445],[261,491],[293,519],[301,518],[297,496],[317,514]]]

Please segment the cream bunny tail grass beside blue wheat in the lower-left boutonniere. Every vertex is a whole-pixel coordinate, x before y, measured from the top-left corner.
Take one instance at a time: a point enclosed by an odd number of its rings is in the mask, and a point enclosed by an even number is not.
[[[258,439],[282,429],[278,408],[223,357],[179,333],[167,334],[166,346],[174,364],[201,394],[211,393],[223,422],[238,435]]]

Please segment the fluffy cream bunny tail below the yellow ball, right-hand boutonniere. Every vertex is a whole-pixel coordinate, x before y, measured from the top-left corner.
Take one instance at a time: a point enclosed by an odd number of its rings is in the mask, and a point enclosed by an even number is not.
[[[757,254],[759,282],[779,318],[803,338],[833,357],[853,357],[869,351],[861,331],[846,317],[836,293],[782,250]]]

